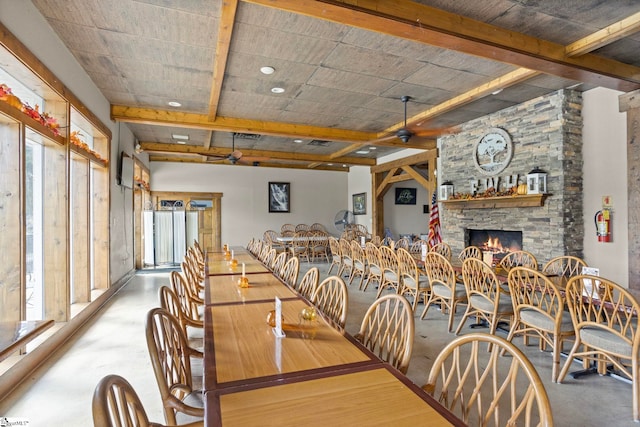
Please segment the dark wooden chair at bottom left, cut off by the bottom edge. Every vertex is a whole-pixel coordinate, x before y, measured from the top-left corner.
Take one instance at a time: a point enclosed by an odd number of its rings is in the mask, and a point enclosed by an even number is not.
[[[119,375],[103,377],[93,393],[91,404],[94,427],[163,427],[149,421],[140,397],[131,384]],[[180,424],[182,427],[204,426],[203,421]]]

